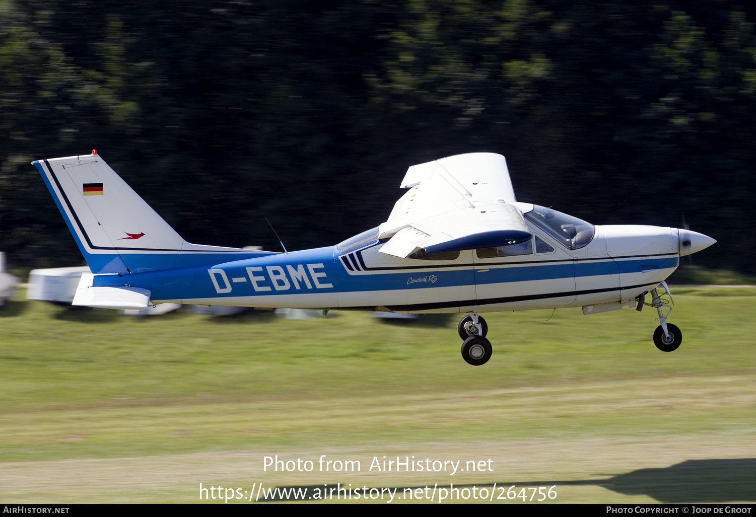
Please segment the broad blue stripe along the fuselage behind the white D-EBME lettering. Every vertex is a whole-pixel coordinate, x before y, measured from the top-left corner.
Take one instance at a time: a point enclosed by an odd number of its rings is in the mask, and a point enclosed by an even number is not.
[[[229,257],[219,254],[212,258],[220,260]],[[461,287],[470,286],[476,282],[478,284],[491,284],[593,277],[616,274],[618,271],[624,273],[640,272],[642,266],[648,267],[649,265],[655,265],[657,268],[674,268],[677,263],[677,256],[629,258],[616,262],[607,258],[597,259],[596,262],[557,262],[532,266],[492,267],[485,274],[477,275],[476,269],[485,267],[485,265],[478,264],[476,268],[467,267],[456,270],[439,268],[438,270],[424,269],[423,271],[349,274],[342,266],[340,257],[336,258],[334,249],[327,247],[278,255],[265,255],[264,257],[240,261],[209,263],[200,267],[130,274],[125,277],[103,275],[95,277],[95,285],[129,283],[131,286],[150,289],[153,293],[153,299],[156,300],[292,294],[317,295],[394,289]],[[215,288],[208,273],[209,269],[222,269],[229,279],[243,277],[249,280],[250,273],[246,268],[259,268],[251,274],[256,277],[264,277],[264,280],[257,280],[254,285],[251,281],[229,283],[231,290],[228,293],[218,293],[218,289]],[[268,268],[271,268],[271,271]],[[305,271],[305,276],[310,280],[311,287],[308,288],[301,279],[297,282],[293,281],[291,271]],[[313,273],[318,274],[318,277],[313,278]],[[280,274],[285,274],[287,281],[275,280],[276,275]],[[318,288],[316,280],[321,285],[331,285],[332,287]],[[296,285],[299,285],[299,289],[296,289]],[[255,286],[260,290],[256,290]],[[221,283],[221,288],[223,287]],[[269,289],[265,289],[265,287]]]

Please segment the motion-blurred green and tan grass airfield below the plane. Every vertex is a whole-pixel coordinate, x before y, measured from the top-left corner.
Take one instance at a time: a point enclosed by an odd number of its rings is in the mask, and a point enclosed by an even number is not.
[[[754,502],[756,289],[673,293],[675,352],[652,344],[648,308],[486,314],[482,367],[460,357],[457,317],[138,320],[17,298],[0,310],[0,502],[194,503],[200,483]],[[276,455],[314,469],[264,472]],[[319,472],[322,455],[361,472]],[[369,470],[384,456],[491,463]]]

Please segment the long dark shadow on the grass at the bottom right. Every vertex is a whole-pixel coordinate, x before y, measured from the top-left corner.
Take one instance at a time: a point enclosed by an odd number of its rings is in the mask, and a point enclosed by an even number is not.
[[[349,486],[349,483],[346,483]],[[494,499],[500,496],[499,487],[504,491],[511,486],[516,486],[518,494],[523,487],[547,487],[556,484],[556,491],[560,487],[575,485],[596,485],[625,495],[645,495],[652,497],[659,503],[727,503],[739,501],[746,503],[756,502],[756,458],[740,458],[736,460],[687,460],[663,469],[639,469],[626,474],[618,474],[606,479],[585,479],[560,481],[502,481],[497,482]],[[476,484],[481,488],[490,490],[491,483]],[[329,488],[334,488],[329,483]],[[342,488],[344,484],[341,485]],[[448,484],[439,485],[448,488]],[[456,484],[454,488],[472,488],[473,484]],[[282,497],[281,492],[292,494],[299,491],[312,494],[315,490],[323,490],[324,485],[300,485],[279,487],[272,497],[266,501],[291,500],[293,497]],[[352,487],[362,488],[362,487]],[[370,488],[370,487],[369,487]],[[376,488],[376,487],[372,487]],[[401,497],[404,489],[415,490],[426,488],[425,485],[417,487],[392,487],[396,490],[396,496]],[[432,488],[432,487],[431,487]],[[381,491],[381,488],[377,488]],[[530,492],[528,491],[528,496]],[[563,494],[563,490],[560,491]],[[490,494],[490,492],[489,492]],[[335,495],[335,494],[334,494]],[[506,497],[506,496],[505,496]],[[536,494],[538,498],[538,494]],[[327,499],[330,500],[330,497]],[[262,499],[260,499],[262,501]],[[455,500],[456,502],[456,500]]]

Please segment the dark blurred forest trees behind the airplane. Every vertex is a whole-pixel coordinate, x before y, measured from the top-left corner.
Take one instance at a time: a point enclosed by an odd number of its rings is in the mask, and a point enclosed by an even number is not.
[[[327,246],[408,166],[507,157],[519,200],[719,242],[756,273],[756,5],[0,0],[0,250],[82,257],[33,159],[92,148],[185,239]],[[745,235],[745,237],[743,237]]]

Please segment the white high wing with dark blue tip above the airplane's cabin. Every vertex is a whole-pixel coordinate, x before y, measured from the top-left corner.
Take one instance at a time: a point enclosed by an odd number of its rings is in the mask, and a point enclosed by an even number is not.
[[[500,154],[469,153],[407,170],[380,238],[381,252],[401,258],[428,253],[507,246],[532,237],[516,203],[507,161]]]

